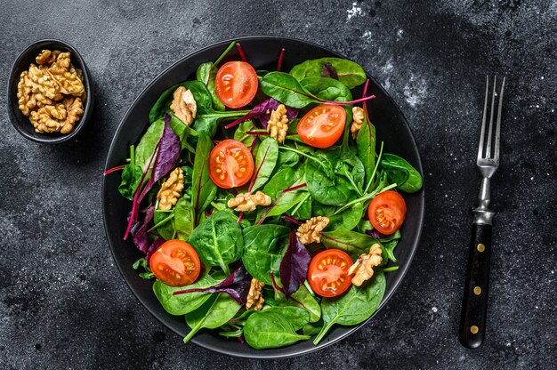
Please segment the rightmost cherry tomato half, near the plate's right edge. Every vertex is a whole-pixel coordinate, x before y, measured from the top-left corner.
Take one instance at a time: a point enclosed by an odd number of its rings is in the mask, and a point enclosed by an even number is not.
[[[391,235],[400,229],[406,217],[406,203],[396,191],[385,191],[375,197],[367,208],[369,221],[377,231]]]

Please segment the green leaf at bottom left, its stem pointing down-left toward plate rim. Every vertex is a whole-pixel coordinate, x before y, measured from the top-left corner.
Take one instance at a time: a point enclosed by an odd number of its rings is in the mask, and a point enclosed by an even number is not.
[[[189,295],[189,294],[182,294]],[[214,329],[227,323],[230,318],[240,309],[238,302],[228,294],[211,294],[211,297],[203,303],[198,310],[191,311],[186,314],[186,323],[190,326],[191,331],[183,339],[183,342],[190,341],[199,329]]]

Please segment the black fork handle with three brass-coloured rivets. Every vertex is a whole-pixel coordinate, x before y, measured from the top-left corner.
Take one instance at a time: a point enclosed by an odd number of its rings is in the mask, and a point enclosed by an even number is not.
[[[474,223],[459,335],[460,342],[468,348],[480,347],[485,335],[490,254],[491,225]]]

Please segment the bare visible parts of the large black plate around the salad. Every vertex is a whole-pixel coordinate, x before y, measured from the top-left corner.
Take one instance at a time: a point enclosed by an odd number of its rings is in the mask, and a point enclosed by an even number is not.
[[[282,64],[282,69],[286,71],[303,60],[330,56],[339,57],[335,52],[331,52],[316,44],[291,38],[254,36],[240,38],[237,41],[241,42],[250,63],[255,68],[261,69],[276,68],[277,57],[281,48],[286,49]],[[106,163],[107,169],[125,163],[125,158],[128,157],[129,153],[129,146],[139,141],[141,134],[145,132],[149,125],[149,109],[157,101],[158,96],[173,84],[195,79],[198,65],[207,60],[215,60],[228,44],[230,44],[230,41],[214,44],[198,52],[193,52],[182,60],[178,60],[170,68],[166,68],[163,73],[157,76],[139,94],[137,99],[133,101],[130,109],[125,113],[125,117],[122,119],[114,136]],[[370,101],[368,107],[372,114],[371,119],[376,127],[378,140],[384,141],[384,150],[404,157],[422,173],[422,164],[416,148],[416,142],[399,107],[371,77],[368,92],[376,95],[376,99]],[[173,316],[166,313],[157,301],[155,294],[153,294],[152,281],[142,279],[138,276],[137,271],[132,268],[133,262],[141,258],[142,255],[131,242],[122,239],[131,203],[118,193],[117,187],[119,182],[120,175],[118,173],[110,173],[104,178],[102,189],[104,226],[117,267],[120,269],[128,286],[132,289],[133,294],[137,296],[147,310],[165,326],[183,337],[190,331],[183,316]],[[403,196],[408,206],[408,213],[401,229],[402,239],[396,249],[400,269],[386,274],[387,289],[379,310],[391,298],[406,274],[410,261],[412,261],[412,257],[416,252],[424,221],[424,189],[415,194],[403,194]],[[369,320],[371,319],[373,317],[369,318]],[[202,330],[196,334],[191,342],[206,349],[232,356],[244,358],[286,358],[323,349],[347,337],[363,325],[365,323],[359,326],[335,326],[318,346],[314,346],[311,341],[304,341],[280,349],[254,350],[245,343],[242,344],[233,339],[226,339],[220,336],[216,330]]]

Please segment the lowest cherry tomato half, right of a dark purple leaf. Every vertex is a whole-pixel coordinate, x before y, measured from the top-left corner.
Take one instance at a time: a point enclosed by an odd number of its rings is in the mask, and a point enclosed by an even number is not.
[[[320,252],[310,262],[308,281],[311,289],[323,297],[343,294],[351,286],[348,269],[352,260],[340,249],[327,249]]]

